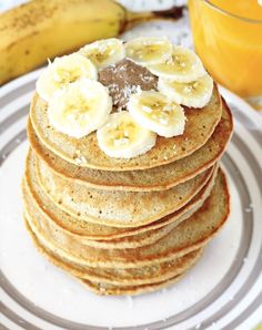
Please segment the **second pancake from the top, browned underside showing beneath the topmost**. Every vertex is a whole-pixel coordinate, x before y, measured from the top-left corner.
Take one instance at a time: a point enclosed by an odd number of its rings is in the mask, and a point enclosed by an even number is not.
[[[28,138],[38,157],[58,175],[93,188],[152,192],[171,188],[212,166],[223,154],[233,130],[232,115],[223,100],[222,117],[208,142],[191,155],[168,165],[144,171],[110,172],[71,164],[48,149],[28,122]]]

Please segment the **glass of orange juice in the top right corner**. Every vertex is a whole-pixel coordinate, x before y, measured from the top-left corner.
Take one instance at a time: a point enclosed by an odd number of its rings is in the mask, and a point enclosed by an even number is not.
[[[262,95],[262,6],[189,0],[195,50],[211,75],[242,96]]]

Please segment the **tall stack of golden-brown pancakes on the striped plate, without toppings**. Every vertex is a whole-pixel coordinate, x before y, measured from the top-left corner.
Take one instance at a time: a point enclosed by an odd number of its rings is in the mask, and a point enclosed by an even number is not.
[[[52,128],[38,94],[22,182],[27,228],[54,265],[100,295],[137,295],[179,280],[225,223],[229,192],[218,165],[232,117],[216,86],[185,107],[183,135],[131,159],[110,158],[95,134]]]

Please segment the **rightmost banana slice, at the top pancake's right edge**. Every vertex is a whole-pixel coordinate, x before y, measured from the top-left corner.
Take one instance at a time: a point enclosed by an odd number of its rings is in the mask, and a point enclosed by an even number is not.
[[[179,83],[160,78],[158,89],[179,104],[203,107],[211,99],[213,80],[208,74],[190,83]]]

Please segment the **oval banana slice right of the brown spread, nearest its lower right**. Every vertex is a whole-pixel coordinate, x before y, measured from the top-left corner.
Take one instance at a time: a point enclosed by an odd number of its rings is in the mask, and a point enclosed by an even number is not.
[[[183,107],[160,92],[143,91],[131,95],[128,110],[141,126],[161,136],[183,134],[185,125]]]

